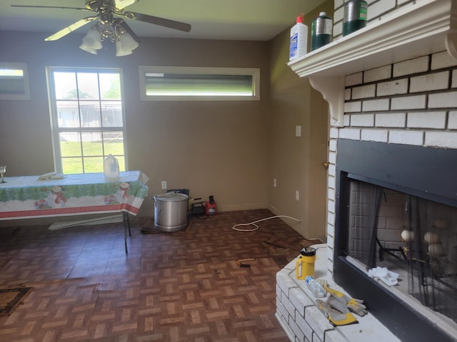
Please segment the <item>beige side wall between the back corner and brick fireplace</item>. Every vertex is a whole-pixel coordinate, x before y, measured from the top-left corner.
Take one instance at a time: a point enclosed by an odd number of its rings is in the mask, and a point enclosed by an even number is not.
[[[320,11],[333,13],[333,0],[305,16],[308,51],[311,21]],[[275,214],[301,219],[284,219],[303,237],[325,239],[326,162],[328,104],[311,88],[308,79],[298,78],[286,65],[288,36],[284,31],[271,41],[271,119],[269,130],[269,207]],[[301,137],[295,136],[301,125]],[[273,187],[276,178],[276,187]],[[299,200],[296,200],[296,191]]]

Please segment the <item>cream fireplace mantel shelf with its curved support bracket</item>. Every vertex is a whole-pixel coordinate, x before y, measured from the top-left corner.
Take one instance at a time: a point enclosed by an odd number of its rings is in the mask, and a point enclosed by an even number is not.
[[[417,0],[365,28],[311,51],[291,67],[328,101],[332,125],[343,125],[344,77],[439,51],[457,59],[455,0]]]

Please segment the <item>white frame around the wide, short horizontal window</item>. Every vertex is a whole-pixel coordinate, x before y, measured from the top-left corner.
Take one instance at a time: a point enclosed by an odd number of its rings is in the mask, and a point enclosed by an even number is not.
[[[146,95],[147,73],[176,73],[186,75],[250,75],[252,95]],[[259,68],[211,68],[189,66],[139,66],[140,98],[143,101],[258,101],[260,100]]]

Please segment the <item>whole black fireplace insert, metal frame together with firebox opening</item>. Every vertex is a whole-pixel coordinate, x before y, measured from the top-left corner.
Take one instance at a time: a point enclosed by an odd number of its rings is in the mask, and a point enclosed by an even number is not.
[[[333,277],[402,341],[455,341],[404,299],[457,327],[456,175],[457,150],[338,140]],[[395,291],[376,266],[400,274]]]

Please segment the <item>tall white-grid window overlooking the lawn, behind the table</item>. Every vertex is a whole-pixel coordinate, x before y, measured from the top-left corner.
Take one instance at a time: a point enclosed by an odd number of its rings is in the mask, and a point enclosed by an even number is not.
[[[119,69],[48,68],[56,172],[103,172],[108,155],[126,170]]]

